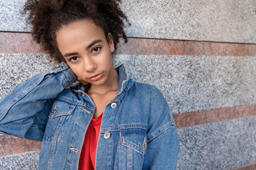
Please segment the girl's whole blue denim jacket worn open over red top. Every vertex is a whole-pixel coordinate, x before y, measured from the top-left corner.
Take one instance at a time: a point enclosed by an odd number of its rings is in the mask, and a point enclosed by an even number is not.
[[[116,99],[105,107],[95,169],[176,169],[178,135],[161,92],[117,68]],[[19,84],[0,101],[0,131],[43,140],[39,169],[78,169],[95,105],[65,63]]]

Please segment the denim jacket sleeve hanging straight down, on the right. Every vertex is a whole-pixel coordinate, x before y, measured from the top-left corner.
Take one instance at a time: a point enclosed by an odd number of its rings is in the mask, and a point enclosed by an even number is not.
[[[176,169],[178,133],[168,103],[158,89],[151,92],[148,141],[143,169]]]

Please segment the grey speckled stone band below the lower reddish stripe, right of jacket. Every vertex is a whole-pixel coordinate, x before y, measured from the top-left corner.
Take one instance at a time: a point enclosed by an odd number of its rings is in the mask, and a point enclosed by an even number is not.
[[[256,117],[178,129],[177,169],[232,169],[256,161]]]

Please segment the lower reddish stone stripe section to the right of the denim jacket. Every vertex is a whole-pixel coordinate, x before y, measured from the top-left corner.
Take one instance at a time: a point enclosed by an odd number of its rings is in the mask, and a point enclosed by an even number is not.
[[[177,128],[187,128],[195,125],[218,123],[252,116],[256,116],[256,103],[227,108],[215,108],[205,111],[176,113],[174,114],[174,120]]]

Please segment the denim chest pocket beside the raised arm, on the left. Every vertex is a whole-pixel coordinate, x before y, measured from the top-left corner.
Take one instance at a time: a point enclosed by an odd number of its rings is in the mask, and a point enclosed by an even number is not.
[[[56,100],[53,103],[43,135],[45,142],[55,142],[62,139],[63,133],[68,125],[68,120],[74,109],[75,105],[65,101]]]

